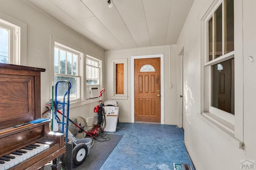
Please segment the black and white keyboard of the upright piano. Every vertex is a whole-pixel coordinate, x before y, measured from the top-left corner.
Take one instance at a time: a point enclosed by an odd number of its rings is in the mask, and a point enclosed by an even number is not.
[[[8,170],[22,161],[50,148],[49,144],[35,143],[30,144],[12,154],[0,157],[0,170]]]

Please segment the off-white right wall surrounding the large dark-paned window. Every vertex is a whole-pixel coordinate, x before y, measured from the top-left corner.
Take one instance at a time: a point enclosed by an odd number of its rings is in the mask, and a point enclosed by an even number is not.
[[[184,47],[185,66],[185,144],[197,170],[239,170],[240,160],[256,160],[256,1],[234,0],[235,9],[242,10],[241,23],[235,18],[235,32],[241,37],[235,37],[235,43],[241,43],[236,53],[241,53],[243,72],[243,91],[239,92],[244,99],[242,112],[244,115],[244,144],[240,149],[234,144],[234,138],[220,130],[200,115],[201,101],[201,23],[200,20],[210,7],[213,0],[195,0],[186,24],[177,42],[177,53]],[[243,28],[243,30],[239,30]],[[242,34],[240,34],[240,32]],[[249,62],[252,56],[254,62]],[[178,59],[179,60],[179,59]],[[177,61],[178,61],[177,60]],[[237,60],[238,61],[238,60]],[[236,62],[236,61],[235,61]],[[240,74],[240,73],[238,73]],[[180,75],[178,75],[179,77]],[[236,125],[235,125],[236,128]]]

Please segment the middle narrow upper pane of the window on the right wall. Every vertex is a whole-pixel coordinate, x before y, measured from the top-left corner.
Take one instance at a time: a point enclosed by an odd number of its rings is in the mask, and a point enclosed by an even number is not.
[[[222,55],[222,5],[214,12],[215,29],[214,29],[214,59]]]

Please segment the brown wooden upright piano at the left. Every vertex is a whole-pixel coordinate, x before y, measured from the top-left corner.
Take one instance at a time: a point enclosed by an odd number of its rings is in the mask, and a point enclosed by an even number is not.
[[[60,170],[64,134],[41,118],[40,74],[45,69],[0,63],[0,170],[37,170],[51,160]],[[16,127],[16,125],[24,126]]]

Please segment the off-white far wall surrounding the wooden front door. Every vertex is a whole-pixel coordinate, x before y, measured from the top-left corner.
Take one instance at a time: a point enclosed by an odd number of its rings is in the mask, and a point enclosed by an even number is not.
[[[110,100],[114,75],[108,69],[112,67],[112,59],[128,59],[128,99],[115,99],[118,102],[119,121],[131,122],[131,57],[139,55],[164,54],[164,124],[177,125],[177,78],[176,78],[176,45],[146,47],[106,52],[106,99]],[[171,64],[170,64],[171,63]],[[171,73],[171,74],[170,74]],[[169,88],[169,83],[172,88]],[[161,101],[163,102],[163,101]]]

